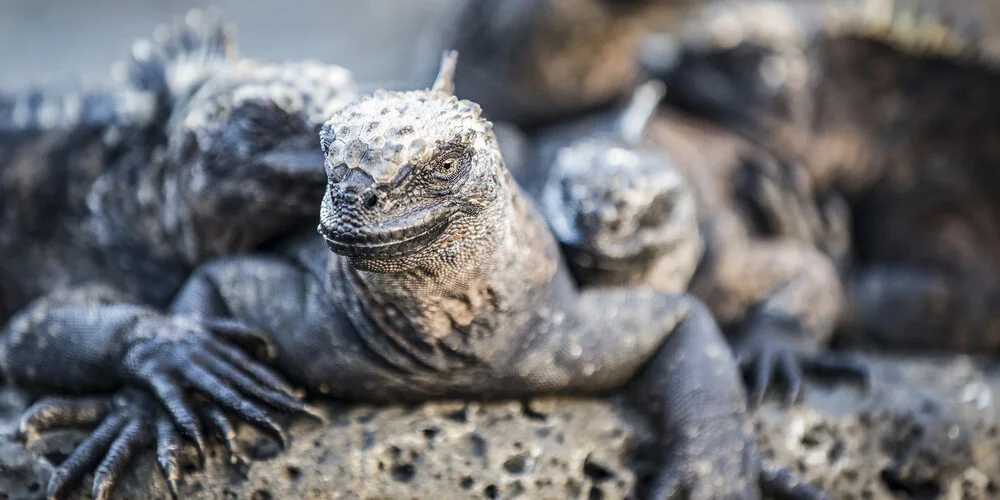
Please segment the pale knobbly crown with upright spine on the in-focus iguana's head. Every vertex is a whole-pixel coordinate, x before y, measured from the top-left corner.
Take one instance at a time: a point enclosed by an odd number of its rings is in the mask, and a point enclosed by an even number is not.
[[[407,165],[428,161],[443,145],[468,139],[493,141],[493,124],[478,104],[453,95],[458,52],[445,52],[434,85],[424,90],[376,90],[334,113],[320,131],[330,167],[365,171],[390,182]]]

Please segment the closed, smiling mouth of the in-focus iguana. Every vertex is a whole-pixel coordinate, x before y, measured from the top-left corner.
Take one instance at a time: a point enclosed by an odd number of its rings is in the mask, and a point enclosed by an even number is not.
[[[426,248],[448,228],[450,213],[446,210],[425,212],[418,220],[408,218],[395,227],[361,232],[320,226],[320,234],[330,250],[344,257],[391,259],[410,255]]]

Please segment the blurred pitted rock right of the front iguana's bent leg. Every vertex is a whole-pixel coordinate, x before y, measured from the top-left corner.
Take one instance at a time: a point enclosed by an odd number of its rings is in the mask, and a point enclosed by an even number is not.
[[[998,366],[957,357],[870,357],[867,394],[811,387],[790,412],[761,409],[765,453],[834,498],[1000,496]]]

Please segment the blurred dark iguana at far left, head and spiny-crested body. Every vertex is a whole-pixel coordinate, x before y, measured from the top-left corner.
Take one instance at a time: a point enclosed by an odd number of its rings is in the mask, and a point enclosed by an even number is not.
[[[0,324],[88,281],[166,305],[200,262],[315,220],[316,132],[351,76],[234,44],[193,11],[107,89],[0,97]]]

